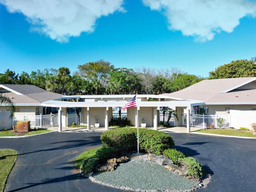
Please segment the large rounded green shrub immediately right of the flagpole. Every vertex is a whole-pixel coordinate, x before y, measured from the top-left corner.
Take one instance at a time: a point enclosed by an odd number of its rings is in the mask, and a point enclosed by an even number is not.
[[[139,129],[139,143],[142,152],[156,155],[161,155],[164,150],[174,146],[172,137],[158,130]]]

